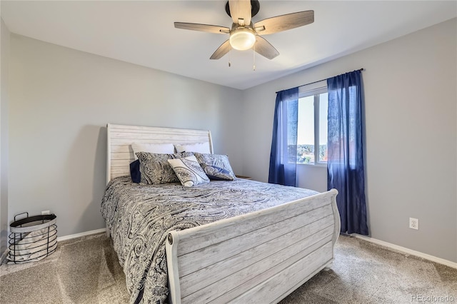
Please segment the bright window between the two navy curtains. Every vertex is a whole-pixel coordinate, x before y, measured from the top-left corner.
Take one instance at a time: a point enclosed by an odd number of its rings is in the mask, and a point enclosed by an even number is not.
[[[298,99],[297,163],[327,163],[326,87],[301,91]]]

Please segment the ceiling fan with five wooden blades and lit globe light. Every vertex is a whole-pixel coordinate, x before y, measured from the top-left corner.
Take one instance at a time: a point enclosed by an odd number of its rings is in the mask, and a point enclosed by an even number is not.
[[[263,19],[253,24],[251,17],[256,16],[259,9],[258,0],[229,0],[226,4],[226,13],[233,20],[231,29],[225,26],[185,22],[175,22],[174,27],[176,29],[230,34],[230,38],[216,49],[210,59],[221,59],[231,48],[241,51],[253,48],[258,54],[268,59],[273,59],[279,55],[279,52],[260,35],[278,33],[314,22],[314,11],[298,11]]]

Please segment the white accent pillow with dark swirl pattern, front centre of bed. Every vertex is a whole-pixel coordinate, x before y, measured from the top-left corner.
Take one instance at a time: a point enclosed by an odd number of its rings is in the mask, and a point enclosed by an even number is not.
[[[195,156],[169,159],[168,162],[185,187],[192,187],[201,183],[209,183],[209,178],[201,168]]]

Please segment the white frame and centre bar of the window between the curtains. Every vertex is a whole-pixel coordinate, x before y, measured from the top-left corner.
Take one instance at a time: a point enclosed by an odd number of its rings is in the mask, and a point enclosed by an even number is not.
[[[327,82],[319,81],[312,83],[312,85],[301,86],[298,88],[298,106],[300,106],[300,99],[308,96],[314,96],[313,100],[313,111],[314,111],[314,163],[296,163],[297,165],[304,166],[318,166],[326,167],[327,162],[319,161],[319,95],[322,93],[328,93]],[[328,144],[328,143],[327,143]]]

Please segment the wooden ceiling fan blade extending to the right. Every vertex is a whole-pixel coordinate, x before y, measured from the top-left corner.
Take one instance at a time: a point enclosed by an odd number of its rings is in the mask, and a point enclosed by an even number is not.
[[[305,26],[314,22],[314,11],[298,11],[292,14],[286,14],[268,19],[263,19],[254,24],[259,35],[267,35],[278,33],[278,31],[286,31],[295,29],[298,26]]]

